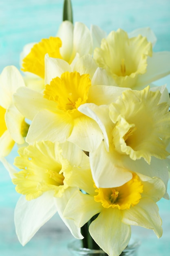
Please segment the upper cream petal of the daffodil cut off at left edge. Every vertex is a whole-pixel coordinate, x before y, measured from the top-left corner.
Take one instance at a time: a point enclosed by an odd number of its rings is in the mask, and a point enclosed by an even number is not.
[[[25,86],[18,69],[7,66],[0,75],[0,105],[7,109],[12,103],[12,95],[20,86]]]

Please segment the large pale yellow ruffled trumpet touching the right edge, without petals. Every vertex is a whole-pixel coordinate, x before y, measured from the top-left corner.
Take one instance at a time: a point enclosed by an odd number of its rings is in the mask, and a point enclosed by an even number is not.
[[[126,90],[110,105],[109,116],[115,124],[110,144],[117,152],[133,160],[143,157],[148,164],[151,156],[163,159],[169,155],[170,113],[168,104],[159,104],[160,97],[159,91],[152,92],[149,87]]]

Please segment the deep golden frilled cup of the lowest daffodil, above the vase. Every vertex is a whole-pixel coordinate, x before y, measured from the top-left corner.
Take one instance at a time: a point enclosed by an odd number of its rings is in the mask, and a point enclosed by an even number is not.
[[[132,179],[124,185],[116,188],[96,189],[98,194],[94,196],[96,202],[101,202],[104,208],[130,209],[139,203],[143,185],[136,173],[132,173]]]

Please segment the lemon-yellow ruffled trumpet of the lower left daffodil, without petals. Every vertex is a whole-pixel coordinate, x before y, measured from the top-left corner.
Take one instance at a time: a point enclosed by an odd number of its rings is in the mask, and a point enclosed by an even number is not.
[[[58,152],[57,155],[55,150]],[[63,159],[61,149],[51,141],[40,141],[19,148],[15,166],[21,169],[12,180],[16,191],[26,195],[27,200],[38,198],[42,193],[53,190],[54,196],[61,197],[68,187],[64,181],[71,170],[67,159]],[[66,173],[68,171],[68,173]]]

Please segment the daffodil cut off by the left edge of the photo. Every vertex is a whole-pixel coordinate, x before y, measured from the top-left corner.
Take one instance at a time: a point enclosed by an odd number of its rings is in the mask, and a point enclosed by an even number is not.
[[[23,144],[29,125],[15,108],[13,93],[24,87],[24,80],[14,66],[5,67],[0,74],[0,157],[7,156],[13,145]]]

